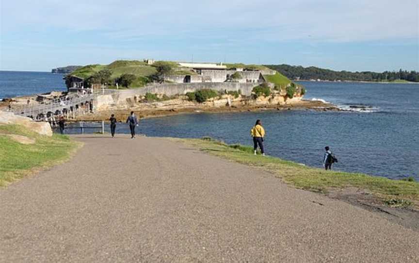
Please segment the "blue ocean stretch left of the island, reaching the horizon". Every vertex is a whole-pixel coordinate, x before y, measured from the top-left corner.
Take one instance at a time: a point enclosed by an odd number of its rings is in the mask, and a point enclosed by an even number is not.
[[[0,99],[66,90],[62,74],[0,71]]]

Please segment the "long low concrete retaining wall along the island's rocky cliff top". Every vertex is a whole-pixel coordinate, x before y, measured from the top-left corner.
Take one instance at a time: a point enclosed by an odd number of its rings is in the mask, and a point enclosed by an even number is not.
[[[164,83],[146,86],[144,88],[120,90],[113,96],[114,103],[125,103],[126,99],[134,96],[144,96],[147,92],[165,94],[167,96],[183,95],[187,92],[193,92],[200,89],[213,89],[218,91],[239,91],[241,90],[243,95],[250,96],[252,89],[259,83],[248,82],[201,82],[201,83]],[[107,102],[109,103],[109,102]]]

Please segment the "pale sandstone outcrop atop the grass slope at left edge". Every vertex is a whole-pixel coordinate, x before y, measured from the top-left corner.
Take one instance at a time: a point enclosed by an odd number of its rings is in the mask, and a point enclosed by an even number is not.
[[[36,122],[31,118],[18,116],[12,112],[0,111],[0,125],[1,124],[21,125],[28,128],[28,130],[41,135],[52,136],[51,127],[47,122]]]

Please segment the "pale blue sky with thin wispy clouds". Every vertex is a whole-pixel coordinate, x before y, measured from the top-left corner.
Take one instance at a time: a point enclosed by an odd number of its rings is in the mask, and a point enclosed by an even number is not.
[[[419,0],[0,0],[0,70],[143,58],[419,71]]]

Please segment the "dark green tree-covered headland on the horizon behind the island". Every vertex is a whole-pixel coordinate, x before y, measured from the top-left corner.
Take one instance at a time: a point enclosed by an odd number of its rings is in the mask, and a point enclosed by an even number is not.
[[[287,76],[289,79],[301,79],[301,80],[312,80],[321,79],[329,81],[395,81],[404,80],[409,82],[419,82],[419,72],[407,71],[400,69],[399,71],[384,71],[384,72],[351,72],[351,71],[334,71],[330,69],[324,69],[315,66],[303,67],[303,66],[290,66],[286,64],[282,65],[264,65],[271,69],[274,69],[281,74]]]

